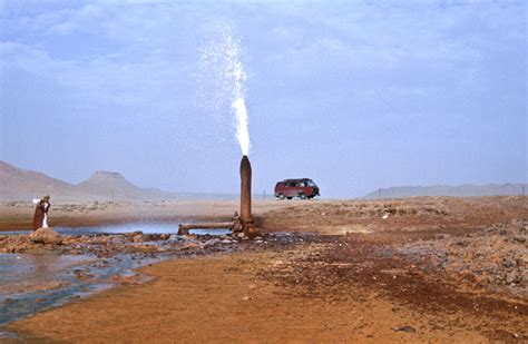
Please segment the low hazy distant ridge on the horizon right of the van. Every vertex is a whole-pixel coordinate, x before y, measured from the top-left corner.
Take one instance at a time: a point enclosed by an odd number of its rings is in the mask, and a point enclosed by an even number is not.
[[[378,198],[405,198],[417,196],[453,196],[453,197],[471,197],[471,196],[517,196],[528,193],[528,184],[488,184],[488,185],[433,185],[433,186],[399,186],[390,188],[381,188],[372,191],[363,199]]]

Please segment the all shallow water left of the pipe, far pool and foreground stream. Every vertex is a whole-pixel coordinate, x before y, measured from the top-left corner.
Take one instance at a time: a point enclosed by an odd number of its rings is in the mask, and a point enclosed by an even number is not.
[[[143,232],[144,234],[176,234],[178,224],[135,223],[94,227],[55,227],[61,235],[102,235]],[[30,230],[3,232],[0,235],[29,234]],[[221,236],[228,229],[194,229],[190,234]],[[176,237],[178,238],[178,237]],[[180,239],[177,239],[180,240]],[[209,239],[212,246],[219,239]],[[166,259],[172,255],[173,240],[143,243],[143,246],[169,245],[167,253],[120,253],[113,256],[90,254],[68,255],[57,252],[0,254],[0,325],[56,307],[76,297],[86,297],[119,282],[136,281],[133,269]],[[81,244],[78,244],[81,246]],[[97,245],[94,245],[97,246]],[[105,245],[102,245],[105,246]],[[125,246],[126,247],[126,244]],[[173,252],[174,254],[174,252]],[[10,336],[0,333],[0,340]]]

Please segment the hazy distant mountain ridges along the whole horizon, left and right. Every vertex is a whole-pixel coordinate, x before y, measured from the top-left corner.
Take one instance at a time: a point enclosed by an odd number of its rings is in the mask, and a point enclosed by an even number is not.
[[[405,198],[415,196],[515,196],[528,194],[528,184],[434,185],[382,188],[361,198]],[[0,160],[0,202],[30,202],[50,195],[56,202],[147,200],[147,199],[234,199],[238,194],[167,193],[157,188],[138,187],[115,171],[96,171],[79,184],[69,184],[42,173],[26,170]],[[262,195],[254,195],[262,198]],[[270,196],[271,198],[272,195]]]

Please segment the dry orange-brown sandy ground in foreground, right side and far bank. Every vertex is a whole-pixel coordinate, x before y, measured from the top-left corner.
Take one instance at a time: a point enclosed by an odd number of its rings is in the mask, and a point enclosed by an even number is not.
[[[209,207],[222,217],[236,203],[187,207],[185,216],[209,216]],[[0,208],[11,212],[6,228],[27,216],[13,208]],[[130,216],[119,206],[66,208],[53,220],[71,214],[81,224],[77,210],[94,222]],[[145,208],[159,220],[184,213],[182,205]],[[9,330],[29,342],[528,341],[527,198],[268,202],[256,203],[255,215],[265,233],[319,234],[147,266],[140,273],[150,282],[125,283]]]

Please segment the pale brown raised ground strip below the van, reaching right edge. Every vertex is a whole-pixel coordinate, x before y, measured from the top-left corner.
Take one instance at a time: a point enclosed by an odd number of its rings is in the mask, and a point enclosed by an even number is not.
[[[387,214],[387,218],[383,215]],[[307,202],[258,217],[266,232],[467,232],[528,216],[528,197],[417,197]],[[412,236],[412,234],[411,234]]]

